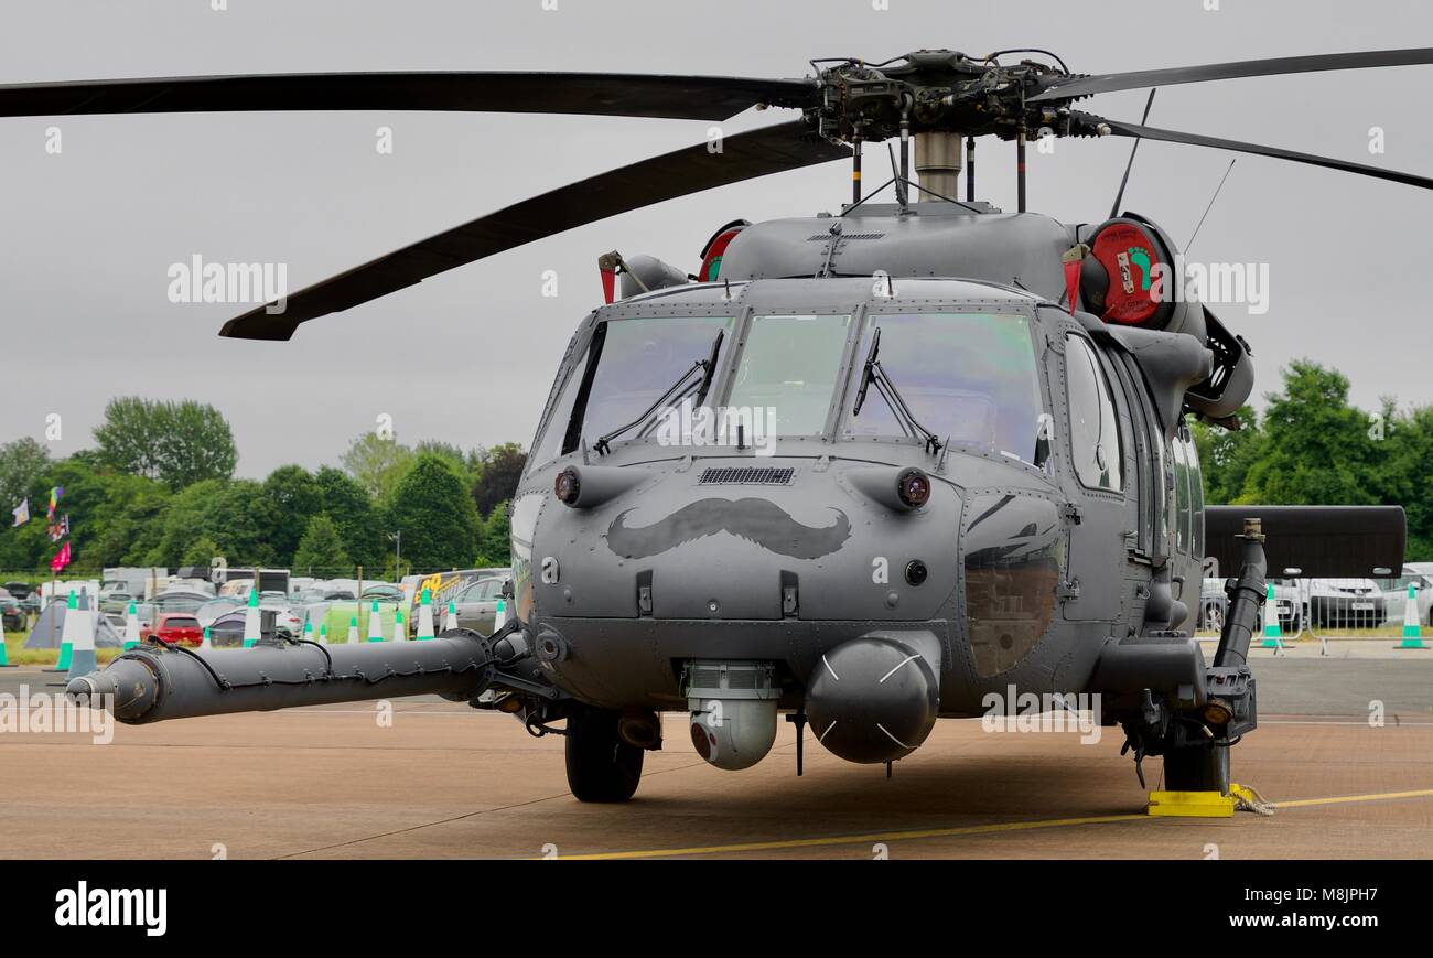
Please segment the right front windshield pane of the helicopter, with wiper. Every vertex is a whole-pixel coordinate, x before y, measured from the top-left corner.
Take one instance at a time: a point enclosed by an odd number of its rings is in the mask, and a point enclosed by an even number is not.
[[[1045,406],[1030,318],[1009,313],[870,314],[847,392],[847,439],[911,436],[909,423],[873,387],[854,413],[874,331],[876,360],[920,426],[956,450],[976,449],[1035,462]]]

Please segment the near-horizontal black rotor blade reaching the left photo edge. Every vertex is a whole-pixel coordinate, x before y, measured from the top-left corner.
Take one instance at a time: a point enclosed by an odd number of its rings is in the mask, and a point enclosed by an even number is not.
[[[0,85],[0,116],[479,110],[719,120],[813,105],[815,80],[633,73],[274,73]]]

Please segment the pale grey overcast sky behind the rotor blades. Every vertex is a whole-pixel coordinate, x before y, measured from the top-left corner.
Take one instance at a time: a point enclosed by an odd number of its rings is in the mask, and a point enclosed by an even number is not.
[[[1075,72],[1433,46],[1416,0],[0,0],[0,83],[322,70],[613,70],[802,76],[807,60],[919,47],[1037,46]],[[552,0],[549,0],[552,6]],[[1433,66],[1168,87],[1151,125],[1433,174]],[[1144,92],[1085,105],[1138,122]],[[728,132],[787,112],[747,115]],[[460,113],[215,113],[0,119],[0,442],[93,445],[112,396],[196,399],[234,425],[239,473],[335,462],[393,416],[404,442],[532,439],[557,360],[600,300],[596,257],[695,270],[721,224],[837,209],[841,163],[725,186],[598,222],[302,326],[289,343],[221,340],[234,305],[171,304],[166,270],[287,262],[289,287],[516,199],[701,142],[706,123]],[[375,129],[394,131],[380,155]],[[1386,131],[1370,156],[1369,132]],[[1032,151],[1030,207],[1108,212],[1129,141]],[[1146,143],[1126,207],[1185,244],[1230,153]],[[980,194],[1015,207],[1013,146],[986,141]],[[1191,258],[1268,262],[1270,310],[1224,307],[1258,390],[1313,357],[1354,400],[1433,402],[1424,297],[1433,192],[1241,158]],[[542,295],[543,271],[559,277]]]

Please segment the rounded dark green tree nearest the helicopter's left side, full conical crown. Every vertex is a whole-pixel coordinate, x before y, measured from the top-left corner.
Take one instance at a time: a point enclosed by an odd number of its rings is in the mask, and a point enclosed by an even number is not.
[[[477,526],[463,476],[441,456],[418,456],[388,508],[388,528],[403,532],[404,561],[418,571],[466,565],[477,551]]]

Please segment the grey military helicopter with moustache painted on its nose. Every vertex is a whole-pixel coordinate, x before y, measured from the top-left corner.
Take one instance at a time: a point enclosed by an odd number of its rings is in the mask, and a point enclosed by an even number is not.
[[[0,87],[4,116],[800,112],[416,242],[224,326],[244,338],[287,340],[320,316],[662,199],[838,159],[853,169],[840,212],[728,224],[696,274],[645,255],[599,260],[606,303],[577,327],[547,397],[512,508],[514,617],[494,634],[140,647],[69,691],[112,697],[128,723],[437,693],[566,736],[569,783],[588,802],[633,795],[643,753],[662,746],[662,711],[689,713],[698,753],[722,769],[759,762],[784,714],[798,773],[810,723],[834,754],[890,774],[939,717],[980,716],[987,696],[1095,693],[1136,763],[1164,757],[1165,787],[1228,793],[1230,749],[1257,724],[1247,651],[1270,564],[1317,577],[1399,568],[1403,512],[1205,508],[1188,419],[1238,426],[1248,344],[1169,295],[1179,277],[1161,280],[1178,248],[1121,214],[1121,198],[1093,224],[1027,212],[1026,143],[1156,139],[1430,188],[1075,109],[1111,90],[1430,62],[1420,49],[1083,76],[1042,50],[921,50],[813,60],[794,80],[363,73]],[[1015,214],[976,199],[982,136],[1016,145]],[[898,142],[891,174],[866,192],[863,148],[883,141]],[[1212,663],[1192,637],[1207,558],[1234,572]]]

